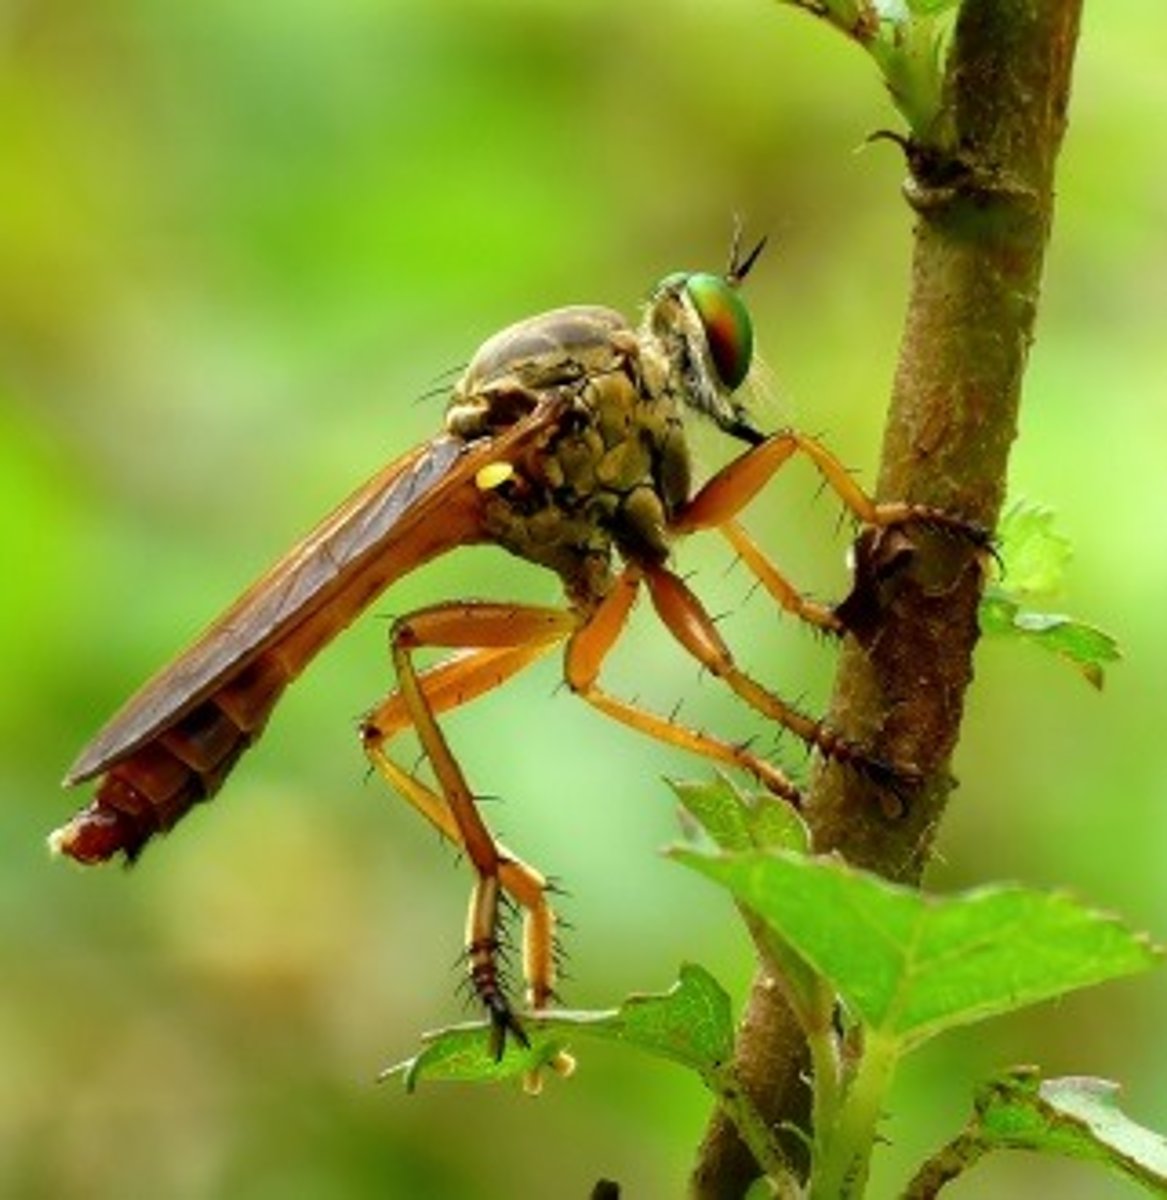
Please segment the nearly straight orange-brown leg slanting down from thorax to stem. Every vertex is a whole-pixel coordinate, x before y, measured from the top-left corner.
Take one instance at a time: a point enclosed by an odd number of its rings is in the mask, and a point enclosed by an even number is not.
[[[644,568],[653,606],[669,632],[708,671],[724,679],[750,708],[778,721],[824,757],[852,763],[869,770],[881,769],[863,750],[784,701],[747,674],[717,631],[713,618],[686,583],[665,566]]]

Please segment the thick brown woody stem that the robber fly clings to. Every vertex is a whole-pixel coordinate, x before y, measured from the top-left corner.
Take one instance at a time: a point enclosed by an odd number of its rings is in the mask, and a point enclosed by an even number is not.
[[[1065,128],[1081,0],[965,0],[945,76],[944,132],[906,144],[917,212],[911,294],[885,426],[878,494],[938,504],[992,528],[1005,491],[1033,338],[1054,162]],[[873,547],[878,551],[879,547]],[[890,762],[914,763],[910,803],[857,772],[819,772],[815,846],[916,882],[953,780],[977,638],[981,568],[969,547],[912,532],[908,569],[872,586],[874,619],[849,638],[831,724]],[[759,976],[759,983],[761,982]],[[806,1122],[806,1044],[778,988],[755,983],[736,1062],[767,1123]],[[716,1112],[692,1187],[741,1196],[758,1166]]]

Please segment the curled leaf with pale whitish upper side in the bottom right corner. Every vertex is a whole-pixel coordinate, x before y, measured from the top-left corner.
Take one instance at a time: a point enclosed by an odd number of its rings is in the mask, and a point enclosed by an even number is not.
[[[1105,1079],[1040,1080],[1009,1072],[977,1094],[977,1134],[991,1148],[1034,1150],[1105,1163],[1160,1194],[1167,1192],[1167,1139],[1118,1106]]]

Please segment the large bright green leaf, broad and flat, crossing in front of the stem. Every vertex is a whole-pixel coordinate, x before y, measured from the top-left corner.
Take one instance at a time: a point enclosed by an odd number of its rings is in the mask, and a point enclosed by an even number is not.
[[[902,1049],[1160,958],[1113,917],[1060,893],[999,886],[936,896],[834,859],[674,853],[729,888]]]

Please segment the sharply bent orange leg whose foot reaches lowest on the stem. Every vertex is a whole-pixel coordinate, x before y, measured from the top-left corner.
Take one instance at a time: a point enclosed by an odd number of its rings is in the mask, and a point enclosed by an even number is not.
[[[746,746],[723,742],[700,730],[687,728],[639,704],[620,700],[597,684],[604,659],[628,620],[641,578],[640,568],[627,566],[616,587],[600,602],[592,617],[570,636],[564,655],[568,685],[606,716],[639,730],[658,742],[748,770],[774,794],[783,796],[794,804],[801,804],[798,788],[773,763],[750,754]]]

